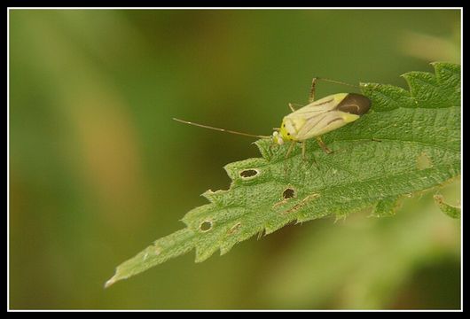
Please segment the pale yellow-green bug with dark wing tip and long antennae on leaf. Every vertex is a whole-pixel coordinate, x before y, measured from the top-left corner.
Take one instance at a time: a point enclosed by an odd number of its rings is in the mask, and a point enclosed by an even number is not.
[[[371,100],[357,93],[336,93],[315,101],[315,84],[317,80],[356,87],[343,82],[314,78],[309,94],[309,104],[295,110],[294,105],[289,103],[289,108],[292,110],[292,113],[287,114],[284,117],[280,128],[275,128],[271,136],[260,136],[224,128],[214,128],[175,118],[173,120],[198,126],[200,128],[210,128],[231,134],[270,138],[273,143],[279,145],[291,142],[291,145],[286,152],[286,157],[292,151],[295,143],[302,143],[302,159],[305,159],[305,141],[312,137],[317,139],[317,143],[326,153],[330,153],[332,151],[328,149],[325,143],[323,143],[321,136],[359,119],[361,115],[367,113],[371,108]]]

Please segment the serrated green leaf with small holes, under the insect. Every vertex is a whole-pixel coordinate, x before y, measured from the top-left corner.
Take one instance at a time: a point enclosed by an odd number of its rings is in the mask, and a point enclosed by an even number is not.
[[[106,286],[196,250],[196,261],[228,253],[249,237],[290,222],[345,217],[372,207],[395,213],[403,196],[438,187],[460,174],[460,66],[434,63],[435,74],[404,74],[410,90],[362,83],[369,113],[324,136],[335,152],[307,142],[286,158],[288,145],[256,142],[262,158],[226,165],[227,191],[207,191],[209,204],[186,214],[184,230],[162,237],[123,262]],[[380,141],[380,142],[378,142]]]

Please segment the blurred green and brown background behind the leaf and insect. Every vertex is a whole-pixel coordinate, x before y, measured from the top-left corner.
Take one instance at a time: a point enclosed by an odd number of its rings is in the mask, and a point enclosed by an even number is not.
[[[458,10],[11,10],[10,307],[458,308],[460,222],[430,195],[324,219],[104,290],[114,268],[227,189],[315,75],[405,86],[460,61]],[[329,83],[317,97],[349,91]],[[459,200],[459,182],[443,195]]]

